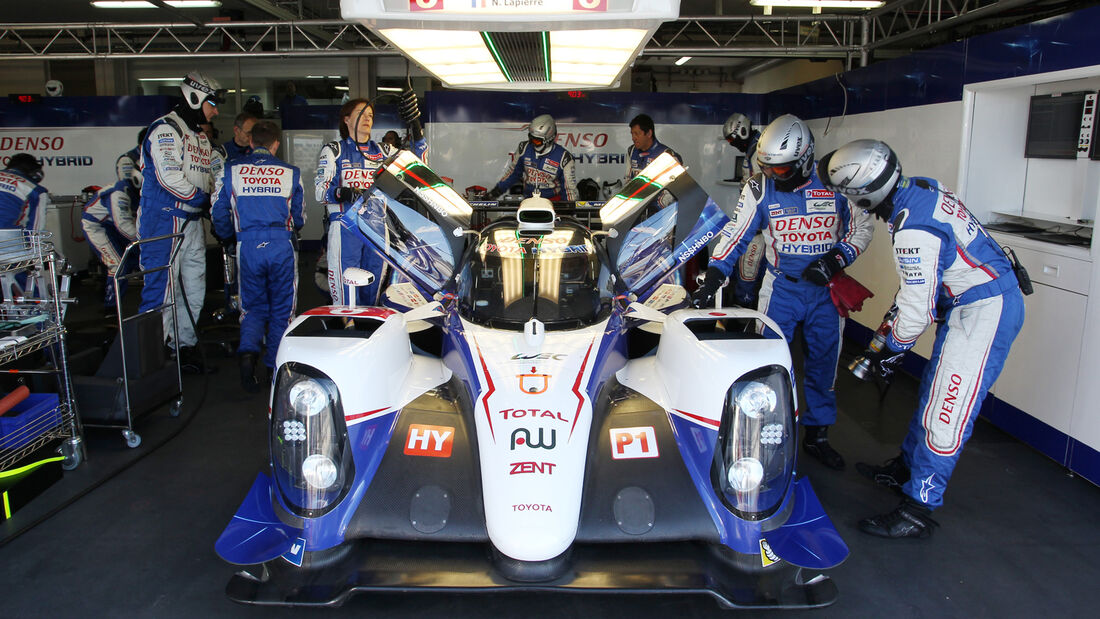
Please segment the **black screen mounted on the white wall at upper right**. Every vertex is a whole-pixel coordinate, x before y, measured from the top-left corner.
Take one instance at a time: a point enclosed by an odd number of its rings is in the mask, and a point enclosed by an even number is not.
[[[1036,95],[1027,113],[1024,157],[1072,159],[1081,129],[1085,92]]]

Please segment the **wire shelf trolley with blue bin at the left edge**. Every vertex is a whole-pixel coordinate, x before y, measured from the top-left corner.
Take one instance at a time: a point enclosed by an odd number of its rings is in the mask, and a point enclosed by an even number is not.
[[[72,471],[84,461],[82,428],[73,399],[73,383],[65,349],[65,316],[68,277],[61,276],[61,258],[47,240],[47,231],[0,230],[0,367],[19,383],[41,383],[35,375],[56,380],[52,394],[35,394],[20,414],[6,414],[0,433],[0,475],[26,465],[28,456],[57,445],[62,467]],[[35,368],[21,368],[35,353],[45,361]],[[42,358],[35,356],[33,358]],[[24,365],[30,365],[26,363]],[[52,388],[52,385],[50,386]]]

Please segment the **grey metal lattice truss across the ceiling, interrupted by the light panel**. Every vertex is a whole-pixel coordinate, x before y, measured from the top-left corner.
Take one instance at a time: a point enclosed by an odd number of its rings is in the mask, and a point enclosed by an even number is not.
[[[698,15],[667,22],[645,56],[847,58],[988,19],[1030,0],[895,0],[859,15]],[[0,60],[256,56],[393,56],[364,25],[340,20],[0,24]]]

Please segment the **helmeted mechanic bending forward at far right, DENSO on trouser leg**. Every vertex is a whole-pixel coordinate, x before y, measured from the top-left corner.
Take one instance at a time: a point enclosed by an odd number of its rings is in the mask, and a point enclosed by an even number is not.
[[[989,387],[1024,321],[1018,265],[939,181],[905,177],[884,143],[857,140],[822,157],[826,186],[884,220],[901,279],[898,313],[883,346],[869,354],[873,374],[889,378],[937,312],[932,358],[921,377],[916,411],[901,455],[856,468],[901,489],[901,505],[859,522],[883,538],[925,538]],[[1021,278],[1023,279],[1023,278]]]

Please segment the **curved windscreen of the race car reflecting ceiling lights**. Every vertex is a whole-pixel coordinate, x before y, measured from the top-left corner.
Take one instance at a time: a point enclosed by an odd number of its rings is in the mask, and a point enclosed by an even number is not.
[[[574,224],[521,235],[514,221],[486,228],[459,279],[462,317],[495,329],[522,329],[531,318],[547,329],[578,329],[610,308],[607,268],[592,235]]]

